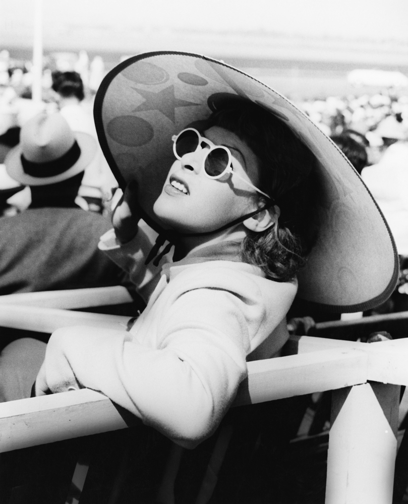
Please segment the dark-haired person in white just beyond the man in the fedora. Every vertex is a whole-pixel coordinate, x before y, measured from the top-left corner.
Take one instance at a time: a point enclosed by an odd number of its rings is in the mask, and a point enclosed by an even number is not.
[[[61,114],[73,131],[88,133],[97,140],[92,112],[84,106],[85,90],[78,72],[53,72],[52,89],[56,93]],[[97,144],[97,153],[87,166],[79,196],[82,208],[102,213],[103,202],[110,199],[111,190],[118,186],[102,151]]]

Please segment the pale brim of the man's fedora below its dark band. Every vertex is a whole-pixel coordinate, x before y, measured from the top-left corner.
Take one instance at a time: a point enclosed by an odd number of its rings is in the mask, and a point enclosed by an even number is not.
[[[69,178],[77,175],[83,171],[88,164],[95,157],[97,151],[96,140],[88,133],[83,132],[73,132],[76,141],[78,142],[79,148],[81,149],[81,154],[76,161],[68,170],[58,175],[52,177],[34,177],[28,175],[23,168],[21,163],[22,149],[21,145],[14,147],[6,156],[4,164],[6,165],[7,173],[17,180],[18,182],[25,185],[49,185],[56,182],[62,182],[63,180],[68,180]]]

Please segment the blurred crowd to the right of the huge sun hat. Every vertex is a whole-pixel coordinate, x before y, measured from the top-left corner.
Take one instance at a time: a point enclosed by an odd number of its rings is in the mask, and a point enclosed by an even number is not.
[[[360,173],[395,240],[397,287],[386,303],[366,314],[408,310],[408,96],[388,88],[298,105]]]

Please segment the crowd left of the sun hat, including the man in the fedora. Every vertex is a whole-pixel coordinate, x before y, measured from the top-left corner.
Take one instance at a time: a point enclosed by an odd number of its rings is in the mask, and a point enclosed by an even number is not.
[[[42,100],[32,99],[31,70],[0,53],[0,295],[111,285],[133,293],[97,246],[118,188],[92,115],[103,62],[80,53],[46,64]]]

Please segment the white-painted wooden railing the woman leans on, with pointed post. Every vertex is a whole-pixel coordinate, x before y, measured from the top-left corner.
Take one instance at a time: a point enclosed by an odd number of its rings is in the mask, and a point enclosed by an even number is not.
[[[114,300],[130,301],[126,289],[115,289]],[[112,292],[92,295],[106,305]],[[78,296],[82,306],[89,303],[85,290],[55,294],[2,296],[0,326],[50,333],[73,325],[125,328],[130,319],[67,311],[79,307]],[[391,504],[408,339],[367,344],[302,336],[292,337],[287,349],[290,355],[248,363],[234,405],[333,391],[326,503]],[[0,452],[125,427],[111,401],[87,389],[12,401],[0,404]]]

